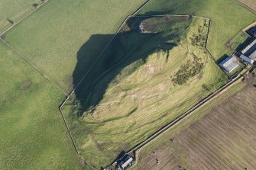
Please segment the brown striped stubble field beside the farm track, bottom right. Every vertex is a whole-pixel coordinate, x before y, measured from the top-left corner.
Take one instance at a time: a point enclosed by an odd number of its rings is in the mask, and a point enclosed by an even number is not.
[[[255,82],[239,82],[148,143],[132,169],[256,168]]]

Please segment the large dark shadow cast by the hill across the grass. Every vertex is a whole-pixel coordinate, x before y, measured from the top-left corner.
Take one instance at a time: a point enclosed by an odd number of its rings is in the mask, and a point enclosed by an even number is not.
[[[180,38],[177,30],[168,30],[168,33],[163,34],[141,34],[138,30],[130,30],[117,34],[102,56],[97,59],[104,45],[113,36],[112,34],[92,35],[77,52],[73,87],[77,87],[76,98],[82,105],[82,111],[78,116],[82,116],[84,111],[93,111],[102,100],[109,84],[118,82],[117,75],[122,77],[131,74],[145,63],[148,55],[159,50],[172,49],[177,46]],[[129,68],[125,69],[127,66]],[[125,73],[122,72],[123,69]]]

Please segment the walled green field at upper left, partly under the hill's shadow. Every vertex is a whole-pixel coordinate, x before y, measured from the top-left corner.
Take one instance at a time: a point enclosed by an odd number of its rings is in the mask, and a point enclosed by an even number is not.
[[[96,38],[81,49],[93,34],[114,34],[122,21],[144,0],[49,1],[24,22],[8,31],[6,40],[63,91],[73,88],[112,36]],[[80,51],[80,53],[77,53]],[[77,62],[79,61],[79,62]]]

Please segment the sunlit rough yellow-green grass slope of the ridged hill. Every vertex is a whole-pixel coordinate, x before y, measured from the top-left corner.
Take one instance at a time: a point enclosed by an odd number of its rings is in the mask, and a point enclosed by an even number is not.
[[[225,74],[212,62],[209,55],[204,53],[204,50],[191,45],[190,37],[205,21],[207,22],[204,19],[193,18],[190,27],[187,27],[187,21],[185,21],[186,24],[183,23],[182,27],[175,30],[177,34],[179,31],[183,33],[177,47],[149,53],[144,63],[141,63],[137,69],[133,67],[136,63],[130,63],[115,76],[106,89],[101,83],[104,79],[108,80],[112,77],[110,74],[120,69],[121,64],[110,65],[109,68],[114,68],[114,71],[109,72],[107,69],[102,75],[93,73],[92,75],[99,80],[96,79],[97,83],[89,88],[89,91],[98,90],[92,93],[94,94],[92,98],[99,90],[104,89],[105,92],[99,104],[83,113],[83,117],[78,118],[77,106],[72,104],[72,100],[66,103],[63,111],[69,120],[79,152],[88,162],[96,168],[108,165],[122,150],[127,151],[136,146],[225,83]],[[204,28],[204,34],[207,33],[207,29],[208,27]],[[168,34],[170,34],[169,31]],[[124,39],[129,40],[128,37]],[[125,50],[133,51],[134,47],[141,47],[139,51],[143,54],[150,49],[148,47],[156,43],[156,40],[156,38],[147,41],[138,40],[143,45],[133,44]],[[115,48],[117,50],[115,53],[120,54],[118,46]],[[126,53],[122,47],[120,48],[123,53]],[[136,50],[133,52],[124,57],[129,59],[129,56],[131,58],[138,54]],[[171,75],[174,75],[188,59],[193,59],[191,53],[203,60],[203,71],[187,83],[174,86]],[[130,69],[132,71],[126,74],[126,71]],[[209,90],[203,88],[203,85],[209,87]],[[91,99],[88,95],[83,98]]]

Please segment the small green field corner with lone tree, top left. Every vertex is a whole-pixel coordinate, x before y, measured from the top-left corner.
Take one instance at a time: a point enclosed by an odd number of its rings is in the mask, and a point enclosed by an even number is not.
[[[39,0],[1,0],[0,1],[0,33],[11,26],[10,21],[14,23],[25,14],[32,11],[33,4],[40,5],[42,2]]]

